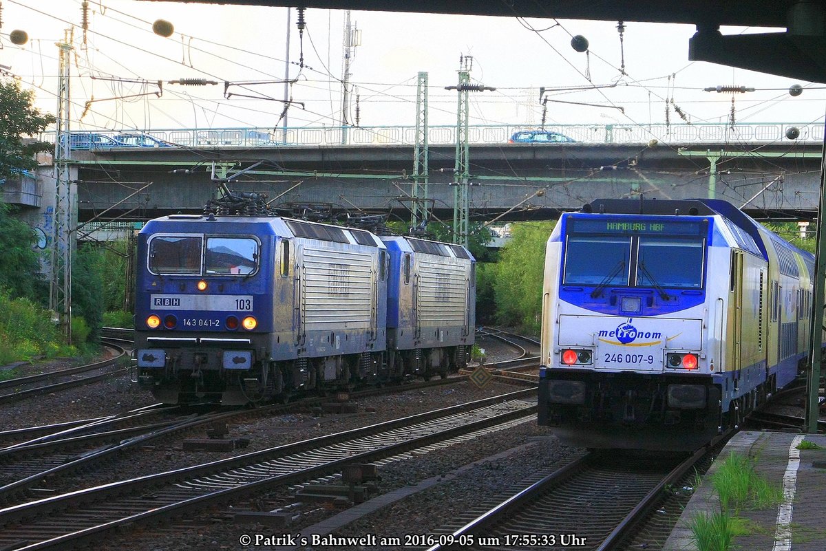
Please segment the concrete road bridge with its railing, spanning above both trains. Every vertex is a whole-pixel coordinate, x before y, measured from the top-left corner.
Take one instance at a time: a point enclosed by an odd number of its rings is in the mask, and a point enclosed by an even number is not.
[[[788,139],[789,129],[798,130]],[[761,218],[809,217],[819,198],[823,125],[548,127],[572,144],[509,144],[518,126],[471,132],[473,218],[550,218],[599,197],[729,200]],[[273,205],[329,204],[409,216],[414,129],[154,130],[159,148],[75,151],[78,217],[195,213],[221,178]],[[429,195],[453,215],[452,127],[430,129]],[[794,135],[794,134],[790,134]]]

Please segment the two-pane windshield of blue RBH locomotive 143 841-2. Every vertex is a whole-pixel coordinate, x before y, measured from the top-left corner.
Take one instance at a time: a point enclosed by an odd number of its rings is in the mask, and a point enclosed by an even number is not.
[[[158,235],[149,243],[150,271],[164,275],[249,275],[258,269],[254,238]],[[203,261],[202,261],[203,259]]]

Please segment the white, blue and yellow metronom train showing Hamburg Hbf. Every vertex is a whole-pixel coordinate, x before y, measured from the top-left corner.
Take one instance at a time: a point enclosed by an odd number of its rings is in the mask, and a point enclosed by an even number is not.
[[[545,257],[539,424],[693,450],[805,364],[814,257],[722,200],[595,200]]]

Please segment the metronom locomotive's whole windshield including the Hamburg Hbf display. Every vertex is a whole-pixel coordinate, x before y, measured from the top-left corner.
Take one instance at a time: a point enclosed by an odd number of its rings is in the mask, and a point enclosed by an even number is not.
[[[564,285],[701,289],[707,225],[569,219]]]

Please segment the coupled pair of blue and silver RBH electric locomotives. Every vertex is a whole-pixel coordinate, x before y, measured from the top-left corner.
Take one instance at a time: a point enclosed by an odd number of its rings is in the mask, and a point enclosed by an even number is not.
[[[467,365],[464,247],[278,216],[173,214],[140,232],[139,382],[239,405]]]

